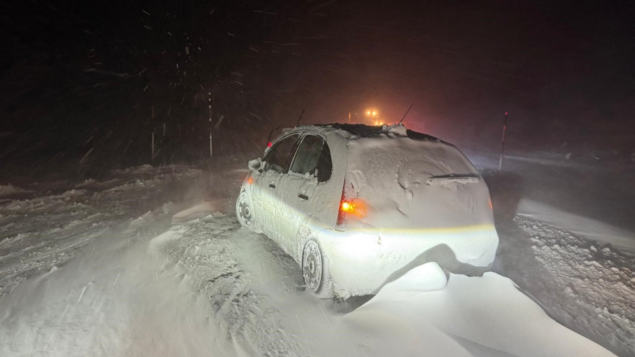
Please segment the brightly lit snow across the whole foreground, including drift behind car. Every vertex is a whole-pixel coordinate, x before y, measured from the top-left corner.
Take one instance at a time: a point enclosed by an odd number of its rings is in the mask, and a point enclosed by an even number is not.
[[[2,355],[610,355],[495,273],[445,286],[420,268],[342,315],[356,306],[304,291],[272,241],[206,214],[152,239],[161,215],[148,215],[17,286],[3,299]]]

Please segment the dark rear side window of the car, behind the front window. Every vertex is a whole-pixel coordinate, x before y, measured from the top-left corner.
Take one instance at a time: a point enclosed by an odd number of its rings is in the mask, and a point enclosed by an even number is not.
[[[332,171],[331,152],[321,137],[306,135],[291,163],[291,172],[316,175],[318,182],[328,181]]]

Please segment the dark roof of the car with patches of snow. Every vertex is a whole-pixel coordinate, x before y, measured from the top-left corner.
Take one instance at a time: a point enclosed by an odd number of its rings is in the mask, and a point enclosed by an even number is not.
[[[302,130],[314,130],[324,135],[332,132],[337,132],[347,140],[356,140],[358,138],[375,138],[380,137],[382,134],[396,133],[399,136],[405,136],[413,140],[430,140],[443,142],[439,138],[419,133],[418,131],[406,129],[403,125],[382,125],[371,126],[364,124],[345,124],[345,123],[331,123],[331,124],[312,124],[312,125],[300,125],[294,128],[284,128],[283,131],[302,131]],[[404,133],[405,131],[405,133]],[[405,135],[404,135],[405,134]]]

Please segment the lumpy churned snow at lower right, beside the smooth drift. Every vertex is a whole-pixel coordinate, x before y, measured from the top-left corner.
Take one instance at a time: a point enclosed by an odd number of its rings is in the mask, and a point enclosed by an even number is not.
[[[494,271],[568,328],[620,356],[635,353],[635,254],[516,217],[500,231]]]

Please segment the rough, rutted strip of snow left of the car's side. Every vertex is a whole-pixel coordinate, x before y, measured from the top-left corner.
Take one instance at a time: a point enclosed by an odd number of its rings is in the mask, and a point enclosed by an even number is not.
[[[221,325],[236,352],[276,357],[304,354],[297,334],[283,328],[281,309],[267,295],[272,288],[269,284],[279,289],[280,282],[286,292],[298,290],[302,277],[298,273],[290,277],[288,271],[280,274],[272,271],[271,262],[258,261],[267,253],[275,252],[275,259],[284,254],[274,247],[275,243],[239,229],[236,220],[221,214],[188,222],[185,227],[187,232],[180,239],[164,244],[161,250],[191,275],[197,292],[209,299],[213,319]],[[251,245],[251,249],[245,250],[246,245]],[[260,256],[250,257],[254,252]],[[260,271],[253,271],[253,264]],[[274,266],[285,270],[289,264],[283,259],[282,264]]]

